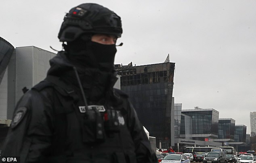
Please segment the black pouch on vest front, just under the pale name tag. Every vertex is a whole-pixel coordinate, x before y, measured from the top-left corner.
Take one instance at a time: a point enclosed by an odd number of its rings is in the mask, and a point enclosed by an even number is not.
[[[87,144],[104,142],[104,123],[97,109],[87,110],[82,119],[83,142]]]

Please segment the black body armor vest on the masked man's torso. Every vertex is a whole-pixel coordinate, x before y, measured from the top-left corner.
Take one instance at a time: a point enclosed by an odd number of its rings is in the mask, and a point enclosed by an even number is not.
[[[32,89],[56,90],[54,101],[55,135],[49,162],[136,163],[135,147],[126,125],[127,98],[114,89],[115,100],[86,106],[78,93],[58,77],[47,76]],[[121,102],[122,101],[122,102]]]

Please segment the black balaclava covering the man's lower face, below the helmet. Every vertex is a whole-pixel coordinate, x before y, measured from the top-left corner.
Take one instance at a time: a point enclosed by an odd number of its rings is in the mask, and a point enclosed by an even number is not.
[[[115,44],[105,45],[78,38],[73,42],[67,42],[67,45],[63,44],[63,47],[68,52],[67,57],[72,63],[83,67],[98,67],[106,71],[113,69],[117,51]]]

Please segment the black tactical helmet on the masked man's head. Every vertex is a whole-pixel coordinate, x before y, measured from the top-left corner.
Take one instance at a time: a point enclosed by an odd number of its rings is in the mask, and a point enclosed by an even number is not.
[[[61,42],[71,42],[82,34],[90,33],[102,33],[120,38],[121,19],[113,11],[99,4],[80,4],[71,8],[64,17],[58,38]]]

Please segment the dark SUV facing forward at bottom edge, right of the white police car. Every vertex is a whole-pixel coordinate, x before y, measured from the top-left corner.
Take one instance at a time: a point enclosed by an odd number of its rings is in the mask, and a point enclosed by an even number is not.
[[[227,163],[227,156],[224,152],[209,152],[203,160],[204,163]]]

